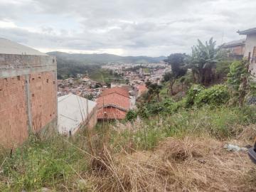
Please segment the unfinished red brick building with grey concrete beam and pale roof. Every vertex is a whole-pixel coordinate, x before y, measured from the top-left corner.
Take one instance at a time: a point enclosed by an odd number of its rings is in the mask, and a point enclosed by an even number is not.
[[[54,57],[0,38],[0,145],[57,129],[56,68]]]

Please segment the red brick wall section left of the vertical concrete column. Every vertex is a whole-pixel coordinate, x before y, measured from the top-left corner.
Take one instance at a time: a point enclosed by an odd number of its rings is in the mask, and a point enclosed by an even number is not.
[[[0,78],[0,144],[15,146],[28,138],[25,76]]]

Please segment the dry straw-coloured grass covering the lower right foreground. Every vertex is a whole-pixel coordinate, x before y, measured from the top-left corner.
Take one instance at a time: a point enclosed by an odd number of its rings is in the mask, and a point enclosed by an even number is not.
[[[233,141],[235,142],[235,141]],[[93,158],[95,191],[256,191],[246,152],[228,152],[208,137],[168,138],[154,151]]]

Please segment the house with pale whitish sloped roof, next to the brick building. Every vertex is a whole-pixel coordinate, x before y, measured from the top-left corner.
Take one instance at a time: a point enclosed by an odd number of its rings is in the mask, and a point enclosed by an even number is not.
[[[80,128],[92,129],[97,123],[97,103],[78,95],[58,97],[58,132],[73,135]]]

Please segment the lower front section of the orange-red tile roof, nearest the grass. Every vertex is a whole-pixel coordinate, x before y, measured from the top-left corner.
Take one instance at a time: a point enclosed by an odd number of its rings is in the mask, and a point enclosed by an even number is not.
[[[124,119],[126,114],[115,107],[105,107],[97,111],[97,119]]]

